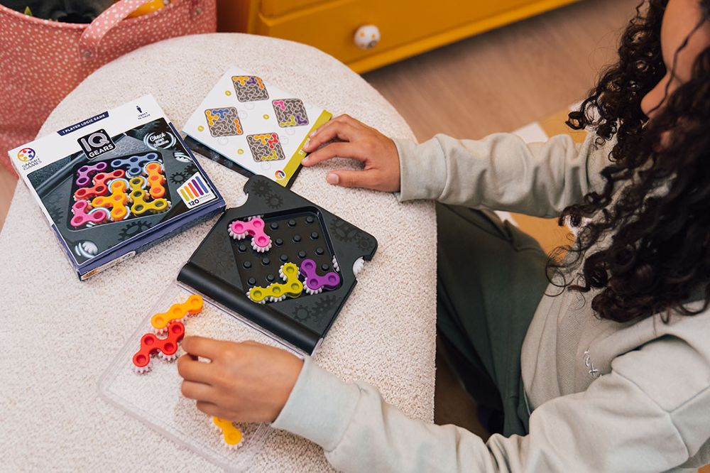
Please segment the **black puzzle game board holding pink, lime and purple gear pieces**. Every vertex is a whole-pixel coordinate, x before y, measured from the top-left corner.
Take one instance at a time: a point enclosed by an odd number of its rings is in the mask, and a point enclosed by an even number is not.
[[[178,281],[312,354],[377,241],[263,176],[244,192],[246,202],[219,218]]]

